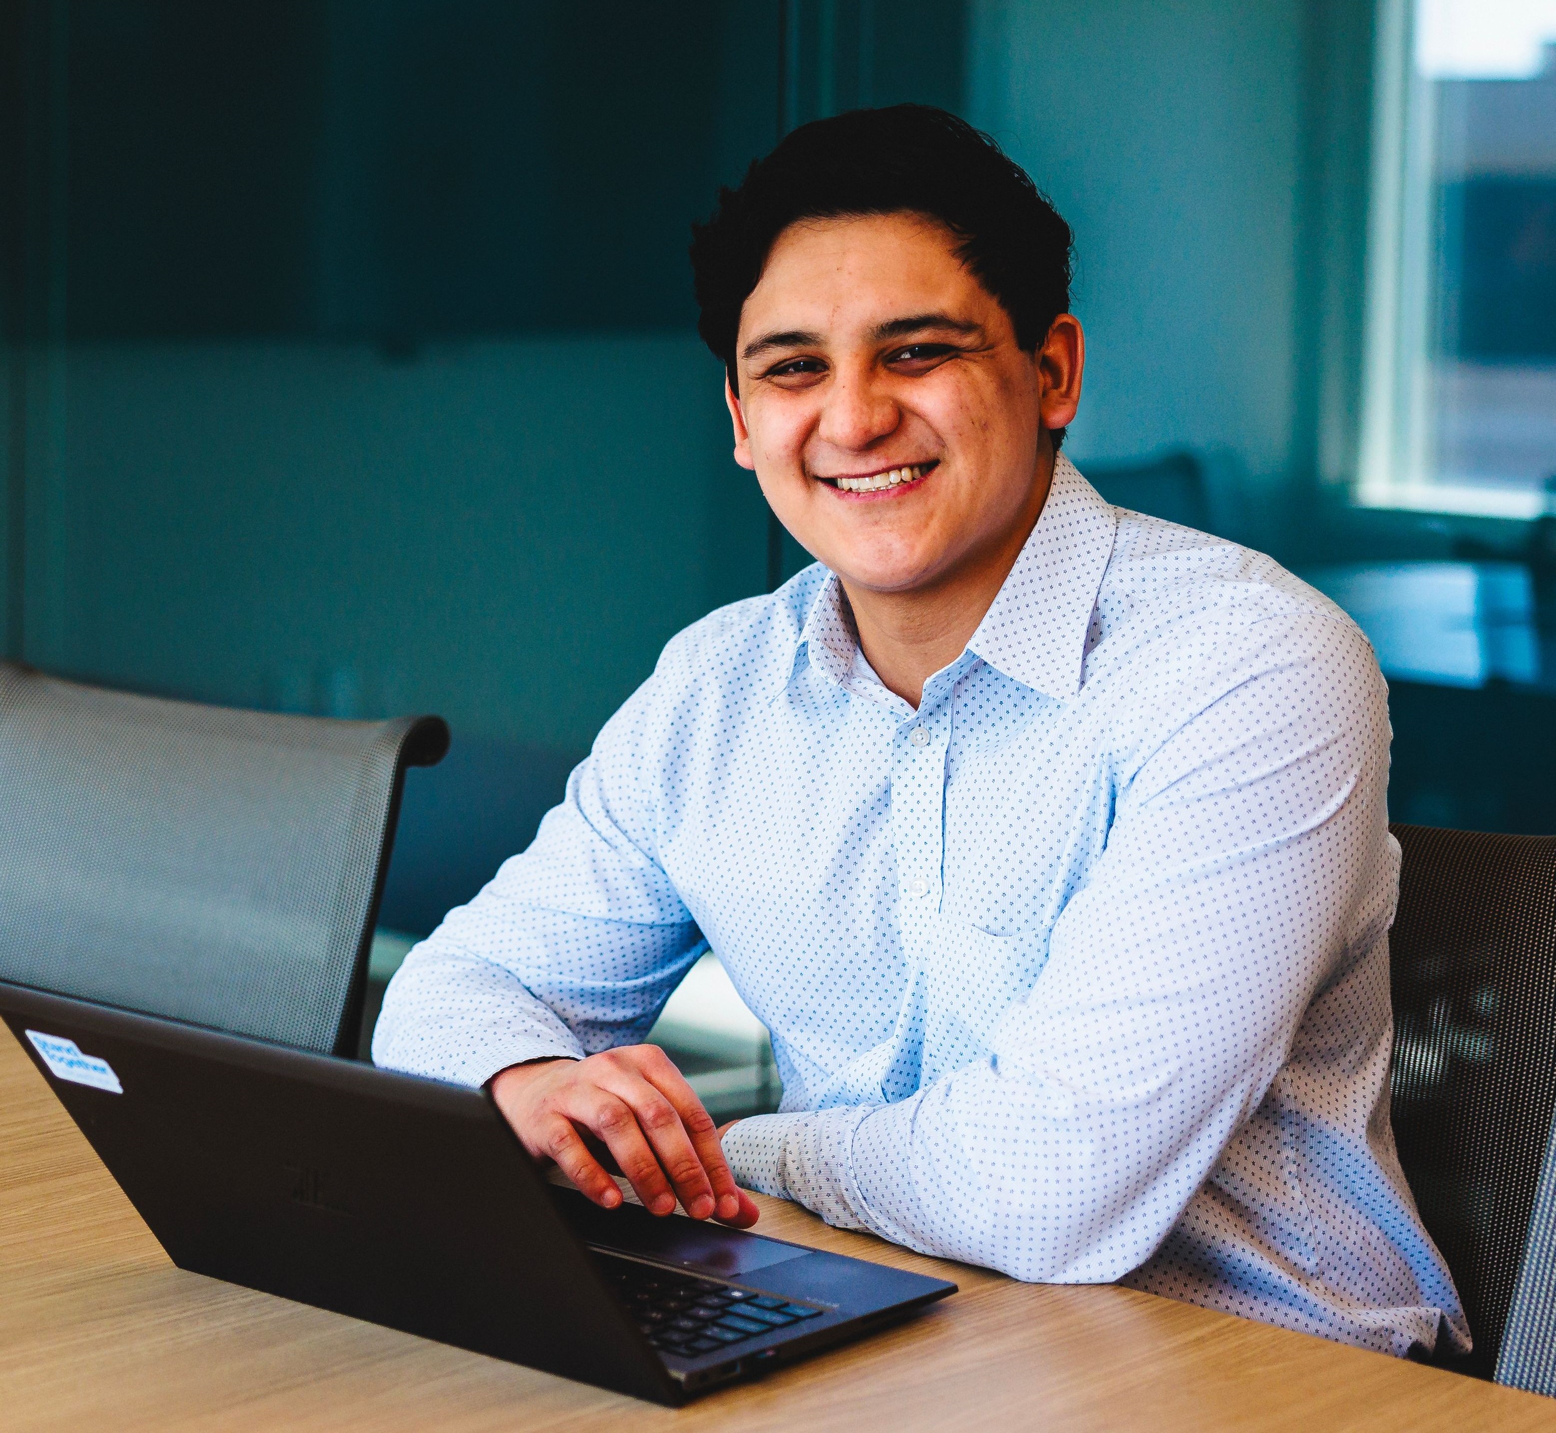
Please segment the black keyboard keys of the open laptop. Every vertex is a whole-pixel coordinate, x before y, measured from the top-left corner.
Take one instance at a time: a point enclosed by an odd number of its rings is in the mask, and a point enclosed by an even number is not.
[[[674,1270],[596,1253],[605,1277],[654,1347],[688,1358],[787,1329],[826,1310],[761,1290],[734,1288]]]

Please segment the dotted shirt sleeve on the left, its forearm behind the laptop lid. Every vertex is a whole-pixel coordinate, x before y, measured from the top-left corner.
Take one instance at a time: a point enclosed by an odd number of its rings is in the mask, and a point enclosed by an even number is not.
[[[375,1064],[476,1086],[647,1035],[705,948],[654,859],[658,680],[605,725],[529,850],[406,957]]]

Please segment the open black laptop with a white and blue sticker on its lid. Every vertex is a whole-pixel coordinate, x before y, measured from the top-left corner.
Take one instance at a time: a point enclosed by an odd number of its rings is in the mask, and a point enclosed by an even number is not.
[[[179,1268],[680,1403],[954,1284],[546,1181],[484,1091],[0,982]]]

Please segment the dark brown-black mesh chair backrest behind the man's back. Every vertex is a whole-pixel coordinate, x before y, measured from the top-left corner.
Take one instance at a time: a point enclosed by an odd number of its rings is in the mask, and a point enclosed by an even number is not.
[[[1393,831],[1394,1140],[1489,1379],[1556,1108],[1556,837]]]

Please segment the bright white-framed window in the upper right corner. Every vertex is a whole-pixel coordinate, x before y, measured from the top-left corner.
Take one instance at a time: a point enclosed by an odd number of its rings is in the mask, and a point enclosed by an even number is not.
[[[1556,512],[1556,0],[1382,0],[1358,501]]]

